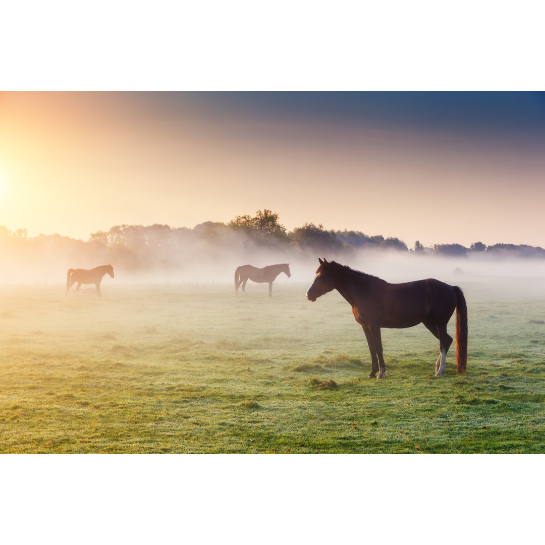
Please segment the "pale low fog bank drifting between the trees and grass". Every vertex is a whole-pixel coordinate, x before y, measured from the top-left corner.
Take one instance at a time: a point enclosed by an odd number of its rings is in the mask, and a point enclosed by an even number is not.
[[[104,245],[92,245],[71,239],[64,240],[65,244],[21,246],[12,248],[10,252],[3,252],[0,283],[64,285],[69,268],[90,269],[102,264],[112,264],[115,278],[112,280],[106,276],[104,287],[106,284],[119,283],[233,286],[234,271],[239,265],[251,264],[261,268],[275,263],[289,263],[292,276],[288,278],[281,273],[275,285],[310,285],[319,265],[318,257],[337,261],[388,282],[438,278],[463,287],[468,282],[489,284],[501,280],[507,282],[510,278],[545,278],[545,259],[539,258],[490,257],[481,255],[484,252],[457,258],[387,250],[349,249],[328,253],[324,250],[301,250],[293,246],[260,249],[256,245],[240,244],[240,240],[235,242],[236,244],[233,240],[222,240],[203,243],[186,240],[173,247],[163,245],[154,248],[153,258],[150,258],[152,254],[145,255],[146,252],[142,249],[131,250],[124,246],[112,250]]]

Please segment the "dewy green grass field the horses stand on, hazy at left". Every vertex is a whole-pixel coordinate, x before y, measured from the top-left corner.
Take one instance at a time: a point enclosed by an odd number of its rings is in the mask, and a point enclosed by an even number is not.
[[[462,276],[468,371],[306,284],[0,287],[2,453],[543,453],[545,282]],[[109,279],[108,279],[109,280]],[[449,323],[450,335],[455,318]]]

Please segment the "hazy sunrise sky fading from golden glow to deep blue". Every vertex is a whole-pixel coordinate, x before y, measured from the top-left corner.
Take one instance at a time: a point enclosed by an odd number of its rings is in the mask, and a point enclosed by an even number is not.
[[[545,94],[3,92],[0,225],[194,227],[545,247]]]

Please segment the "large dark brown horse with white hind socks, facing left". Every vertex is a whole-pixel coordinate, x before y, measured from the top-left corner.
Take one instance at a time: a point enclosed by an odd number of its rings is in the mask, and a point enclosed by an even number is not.
[[[326,259],[320,266],[307,299],[316,301],[324,293],[336,289],[352,306],[354,318],[367,338],[372,371],[368,378],[386,378],[382,356],[380,328],[410,328],[424,324],[439,339],[441,353],[435,362],[435,376],[445,372],[446,353],[452,337],[446,324],[456,308],[456,367],[465,371],[468,356],[468,310],[464,294],[458,286],[450,286],[434,278],[403,284],[390,284],[376,276],[355,271]]]

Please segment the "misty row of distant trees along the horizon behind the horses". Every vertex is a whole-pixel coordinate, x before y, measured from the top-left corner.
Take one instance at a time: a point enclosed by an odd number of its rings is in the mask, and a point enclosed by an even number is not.
[[[513,244],[486,246],[481,242],[435,244],[425,248],[416,241],[413,248],[397,238],[367,235],[360,231],[334,231],[305,223],[288,232],[278,214],[258,210],[256,215],[236,216],[228,223],[207,221],[188,227],[168,225],[117,225],[92,233],[87,241],[58,234],[28,237],[26,229],[10,231],[0,226],[0,251],[4,261],[32,265],[58,262],[86,268],[100,263],[116,263],[125,270],[178,268],[184,259],[221,259],[229,253],[247,255],[257,251],[318,253],[333,258],[349,257],[355,251],[390,250],[415,255],[445,257],[524,257],[543,258],[541,247]]]

